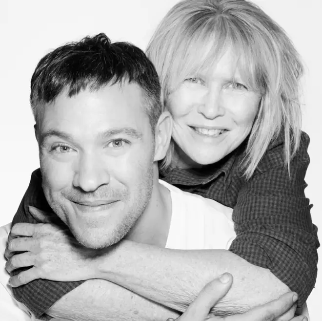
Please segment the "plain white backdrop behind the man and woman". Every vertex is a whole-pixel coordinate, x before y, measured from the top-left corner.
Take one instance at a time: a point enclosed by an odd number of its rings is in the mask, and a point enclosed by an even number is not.
[[[50,49],[104,32],[143,50],[157,23],[177,0],[0,0],[0,225],[11,221],[30,174],[39,167],[29,107],[30,78]],[[322,0],[255,0],[289,34],[306,67],[303,130],[311,137],[306,195],[322,242]],[[319,157],[320,156],[320,157]],[[322,250],[319,249],[321,256]],[[322,259],[319,262],[322,270]],[[247,294],[245,294],[247,295]],[[308,300],[312,321],[322,320],[322,273]]]

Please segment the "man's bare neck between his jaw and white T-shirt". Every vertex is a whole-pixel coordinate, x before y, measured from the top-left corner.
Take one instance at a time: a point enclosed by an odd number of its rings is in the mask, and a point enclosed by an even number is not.
[[[170,191],[155,178],[149,204],[126,239],[165,247],[172,215]]]

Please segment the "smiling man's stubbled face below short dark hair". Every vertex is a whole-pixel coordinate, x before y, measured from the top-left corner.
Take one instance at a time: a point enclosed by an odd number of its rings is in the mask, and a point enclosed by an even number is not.
[[[63,92],[44,106],[40,168],[49,205],[90,248],[118,242],[147,206],[154,135],[141,88],[124,83]]]

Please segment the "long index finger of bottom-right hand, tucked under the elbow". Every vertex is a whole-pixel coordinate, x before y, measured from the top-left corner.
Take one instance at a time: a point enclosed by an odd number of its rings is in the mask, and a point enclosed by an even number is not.
[[[246,313],[231,316],[227,321],[273,321],[287,312],[297,300],[295,292],[288,292],[277,300],[262,304]]]

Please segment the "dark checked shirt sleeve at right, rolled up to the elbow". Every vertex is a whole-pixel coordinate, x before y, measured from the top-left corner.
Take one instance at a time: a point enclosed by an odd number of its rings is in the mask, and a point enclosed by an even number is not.
[[[299,295],[301,307],[317,278],[319,241],[305,173],[309,165],[309,137],[290,164],[283,161],[283,143],[268,150],[253,177],[245,182],[233,211],[237,237],[230,250],[248,262],[268,268]]]

